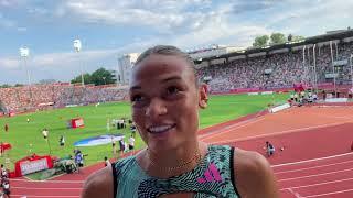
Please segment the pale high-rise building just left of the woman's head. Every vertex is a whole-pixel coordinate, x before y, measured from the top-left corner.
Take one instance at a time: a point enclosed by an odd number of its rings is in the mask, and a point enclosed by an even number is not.
[[[127,85],[130,80],[131,68],[133,67],[140,53],[124,54],[118,58],[117,82]]]

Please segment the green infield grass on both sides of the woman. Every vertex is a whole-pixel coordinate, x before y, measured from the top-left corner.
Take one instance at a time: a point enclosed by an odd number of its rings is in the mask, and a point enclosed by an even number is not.
[[[208,108],[200,111],[200,128],[206,128],[264,110],[269,103],[282,103],[287,97],[288,94],[211,96]],[[66,121],[77,117],[84,119],[85,127],[67,129]],[[26,121],[28,118],[30,122]],[[8,142],[12,145],[12,148],[0,157],[0,163],[13,169],[14,162],[31,153],[65,157],[73,155],[75,148],[73,145],[74,142],[108,133],[121,133],[126,136],[125,141],[128,142],[128,138],[130,136],[129,125],[124,130],[117,130],[111,127],[110,131],[107,131],[107,120],[120,118],[130,118],[130,107],[128,102],[100,103],[98,107],[94,105],[72,107],[18,114],[11,118],[0,118],[0,141]],[[8,132],[4,132],[6,123],[9,125]],[[43,139],[42,130],[44,128],[49,130],[49,141]],[[58,143],[61,135],[65,136],[64,147],[61,147]],[[137,134],[136,148],[141,148],[142,146],[145,146],[145,144]],[[103,162],[104,156],[111,158],[117,157],[114,156],[111,152],[110,143],[98,146],[79,147],[79,150],[87,155],[85,157],[85,165]]]

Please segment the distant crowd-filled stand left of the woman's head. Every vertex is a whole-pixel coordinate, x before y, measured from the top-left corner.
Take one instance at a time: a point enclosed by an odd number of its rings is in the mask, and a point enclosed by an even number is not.
[[[69,105],[89,105],[126,99],[125,87],[116,85],[81,86],[71,84],[31,85],[0,89],[3,112],[33,111],[63,108]]]

